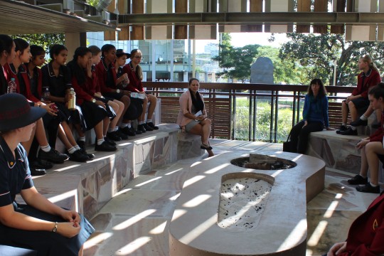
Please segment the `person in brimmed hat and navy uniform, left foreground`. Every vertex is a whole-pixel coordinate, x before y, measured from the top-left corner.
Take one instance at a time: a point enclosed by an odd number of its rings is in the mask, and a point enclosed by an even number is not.
[[[0,109],[0,244],[36,250],[38,255],[82,255],[82,244],[94,229],[82,215],[38,193],[20,144],[30,139],[46,110],[31,107],[17,93],[0,96]],[[26,205],[15,202],[18,193]]]

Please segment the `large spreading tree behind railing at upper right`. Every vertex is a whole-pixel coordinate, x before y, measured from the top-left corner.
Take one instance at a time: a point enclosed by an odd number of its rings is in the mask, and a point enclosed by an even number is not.
[[[337,61],[337,85],[356,84],[356,75],[360,73],[356,63],[363,55],[370,55],[378,68],[383,66],[384,43],[346,41],[344,35],[331,33],[288,33],[287,37],[291,40],[282,45],[279,57],[305,69],[302,84],[320,78],[332,85],[334,60]]]

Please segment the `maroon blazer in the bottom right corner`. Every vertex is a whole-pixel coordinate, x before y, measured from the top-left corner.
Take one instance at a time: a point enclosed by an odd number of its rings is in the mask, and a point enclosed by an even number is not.
[[[346,252],[339,256],[384,254],[384,193],[349,228]]]

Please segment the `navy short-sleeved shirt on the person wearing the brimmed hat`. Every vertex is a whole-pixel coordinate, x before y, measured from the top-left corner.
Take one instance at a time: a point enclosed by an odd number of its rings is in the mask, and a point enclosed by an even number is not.
[[[26,150],[18,144],[15,156],[0,136],[0,207],[14,202],[22,189],[33,187]]]

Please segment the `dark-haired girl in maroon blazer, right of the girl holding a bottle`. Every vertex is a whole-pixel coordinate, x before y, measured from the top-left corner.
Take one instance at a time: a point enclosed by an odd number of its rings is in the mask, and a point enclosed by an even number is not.
[[[107,100],[95,98],[95,88],[97,80],[92,74],[92,53],[86,47],[79,47],[75,50],[73,60],[68,63],[68,67],[72,73],[72,84],[76,92],[76,100],[80,105],[82,114],[87,124],[87,129],[95,129],[96,134],[96,151],[115,151],[115,144],[105,141],[103,134],[103,123],[110,124],[110,117],[116,116],[114,111],[107,105]],[[112,127],[114,128],[114,127]],[[80,131],[78,131],[80,132]],[[115,131],[112,133],[116,133]],[[107,137],[117,136],[114,134]],[[84,136],[80,134],[80,136]],[[118,136],[117,136],[118,137]],[[119,137],[119,139],[121,139]]]

